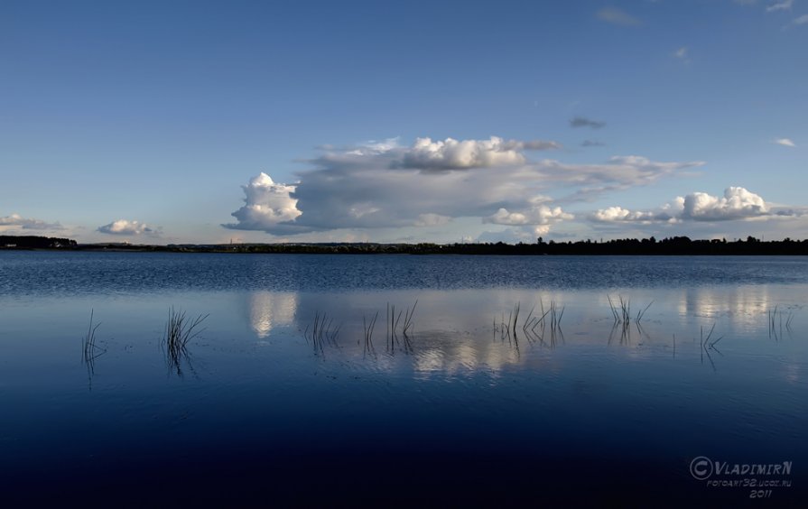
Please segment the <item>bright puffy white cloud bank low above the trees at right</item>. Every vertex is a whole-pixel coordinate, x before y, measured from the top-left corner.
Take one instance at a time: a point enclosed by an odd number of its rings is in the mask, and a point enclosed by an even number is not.
[[[590,219],[599,222],[729,221],[760,217],[794,216],[791,209],[773,209],[759,195],[741,187],[729,187],[724,196],[693,192],[677,197],[656,211],[632,211],[622,207],[599,209]]]

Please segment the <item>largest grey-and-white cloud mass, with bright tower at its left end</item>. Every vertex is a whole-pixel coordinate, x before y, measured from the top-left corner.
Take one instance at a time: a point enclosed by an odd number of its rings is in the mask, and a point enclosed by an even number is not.
[[[440,227],[459,218],[546,231],[571,219],[548,191],[646,185],[701,162],[617,156],[600,164],[531,161],[552,142],[488,140],[335,149],[310,160],[294,184],[262,173],[243,186],[228,228],[287,236],[344,228]],[[597,190],[590,191],[597,193]]]

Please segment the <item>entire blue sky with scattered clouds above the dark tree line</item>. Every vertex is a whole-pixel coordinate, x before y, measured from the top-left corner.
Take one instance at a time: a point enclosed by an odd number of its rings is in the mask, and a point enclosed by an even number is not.
[[[4,0],[0,66],[0,235],[808,238],[808,0]]]

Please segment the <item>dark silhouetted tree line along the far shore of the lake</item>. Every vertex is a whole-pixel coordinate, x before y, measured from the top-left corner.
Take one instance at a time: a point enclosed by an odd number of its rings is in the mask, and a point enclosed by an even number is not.
[[[581,254],[581,255],[800,255],[808,254],[808,239],[763,241],[746,239],[692,240],[673,236],[615,239],[608,241],[458,244],[377,244],[377,243],[279,243],[279,244],[181,244],[135,245],[129,243],[79,244],[69,238],[45,236],[0,236],[0,250],[125,251],[158,253],[265,253],[265,254]]]

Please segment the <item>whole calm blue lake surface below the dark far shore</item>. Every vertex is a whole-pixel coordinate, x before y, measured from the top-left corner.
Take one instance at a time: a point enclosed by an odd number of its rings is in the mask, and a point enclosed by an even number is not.
[[[0,493],[797,506],[806,295],[793,257],[0,253]]]

